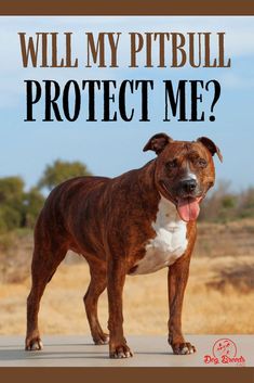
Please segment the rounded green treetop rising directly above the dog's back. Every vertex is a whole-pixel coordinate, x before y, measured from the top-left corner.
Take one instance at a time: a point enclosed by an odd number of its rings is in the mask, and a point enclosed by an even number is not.
[[[38,182],[38,188],[52,190],[61,182],[79,176],[91,176],[86,165],[78,161],[70,163],[56,159],[52,165],[46,166]]]

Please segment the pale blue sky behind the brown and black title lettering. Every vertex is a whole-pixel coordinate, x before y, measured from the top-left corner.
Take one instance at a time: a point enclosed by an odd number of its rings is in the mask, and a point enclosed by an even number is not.
[[[72,31],[73,52],[82,59],[85,31],[121,31],[120,68],[23,68],[17,33]],[[225,31],[226,56],[231,68],[128,68],[129,31]],[[64,41],[64,40],[62,40]],[[63,43],[62,43],[63,47]],[[59,53],[61,53],[59,48]],[[156,49],[156,48],[155,48]],[[175,139],[193,140],[208,136],[224,154],[217,159],[218,179],[242,190],[254,184],[254,17],[1,17],[0,18],[0,177],[19,175],[27,187],[35,184],[46,164],[56,158],[84,162],[95,175],[117,176],[149,161],[152,153],[143,153],[147,140],[165,131]],[[212,48],[212,53],[213,51]],[[4,58],[4,59],[3,59]],[[141,61],[144,54],[141,54]],[[217,79],[222,94],[215,105],[214,123],[163,123],[162,88],[156,87],[150,98],[151,122],[88,123],[85,110],[75,123],[25,123],[25,79]],[[130,100],[137,105],[138,94]],[[211,103],[211,99],[206,100]],[[206,107],[208,107],[208,104]],[[98,99],[98,111],[102,100]],[[36,110],[43,111],[42,104]]]

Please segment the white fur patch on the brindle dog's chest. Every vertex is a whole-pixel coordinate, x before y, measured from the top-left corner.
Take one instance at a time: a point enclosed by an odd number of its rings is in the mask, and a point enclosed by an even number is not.
[[[152,228],[156,237],[146,245],[146,254],[135,265],[137,268],[133,275],[160,270],[174,264],[186,251],[187,224],[178,217],[174,204],[163,196]]]

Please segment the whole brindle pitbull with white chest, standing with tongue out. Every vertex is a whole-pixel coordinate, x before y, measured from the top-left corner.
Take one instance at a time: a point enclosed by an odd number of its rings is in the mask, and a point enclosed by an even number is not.
[[[126,275],[169,268],[169,343],[174,354],[195,346],[182,333],[182,306],[196,241],[200,203],[214,184],[209,138],[174,141],[158,133],[144,151],[158,155],[141,169],[116,178],[79,177],[57,186],[45,201],[35,229],[32,286],[27,299],[26,349],[41,349],[38,311],[41,296],[68,250],[85,257],[91,282],[84,306],[95,344],[108,342],[97,318],[107,288],[109,356],[132,356],[124,334],[122,291]]]

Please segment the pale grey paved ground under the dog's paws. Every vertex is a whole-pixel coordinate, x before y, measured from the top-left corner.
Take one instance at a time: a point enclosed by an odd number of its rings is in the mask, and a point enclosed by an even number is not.
[[[216,366],[254,366],[254,335],[189,335],[186,339],[196,345],[196,354],[173,355],[165,336],[129,336],[134,357],[113,360],[108,358],[108,346],[95,346],[89,336],[44,336],[42,352],[25,352],[22,336],[0,336],[0,367],[211,367],[214,365],[205,363],[204,356],[213,356],[214,343],[219,339],[235,343],[238,361],[225,365],[219,358]],[[223,341],[220,345],[224,346]],[[230,343],[229,355],[232,356],[236,346]]]

